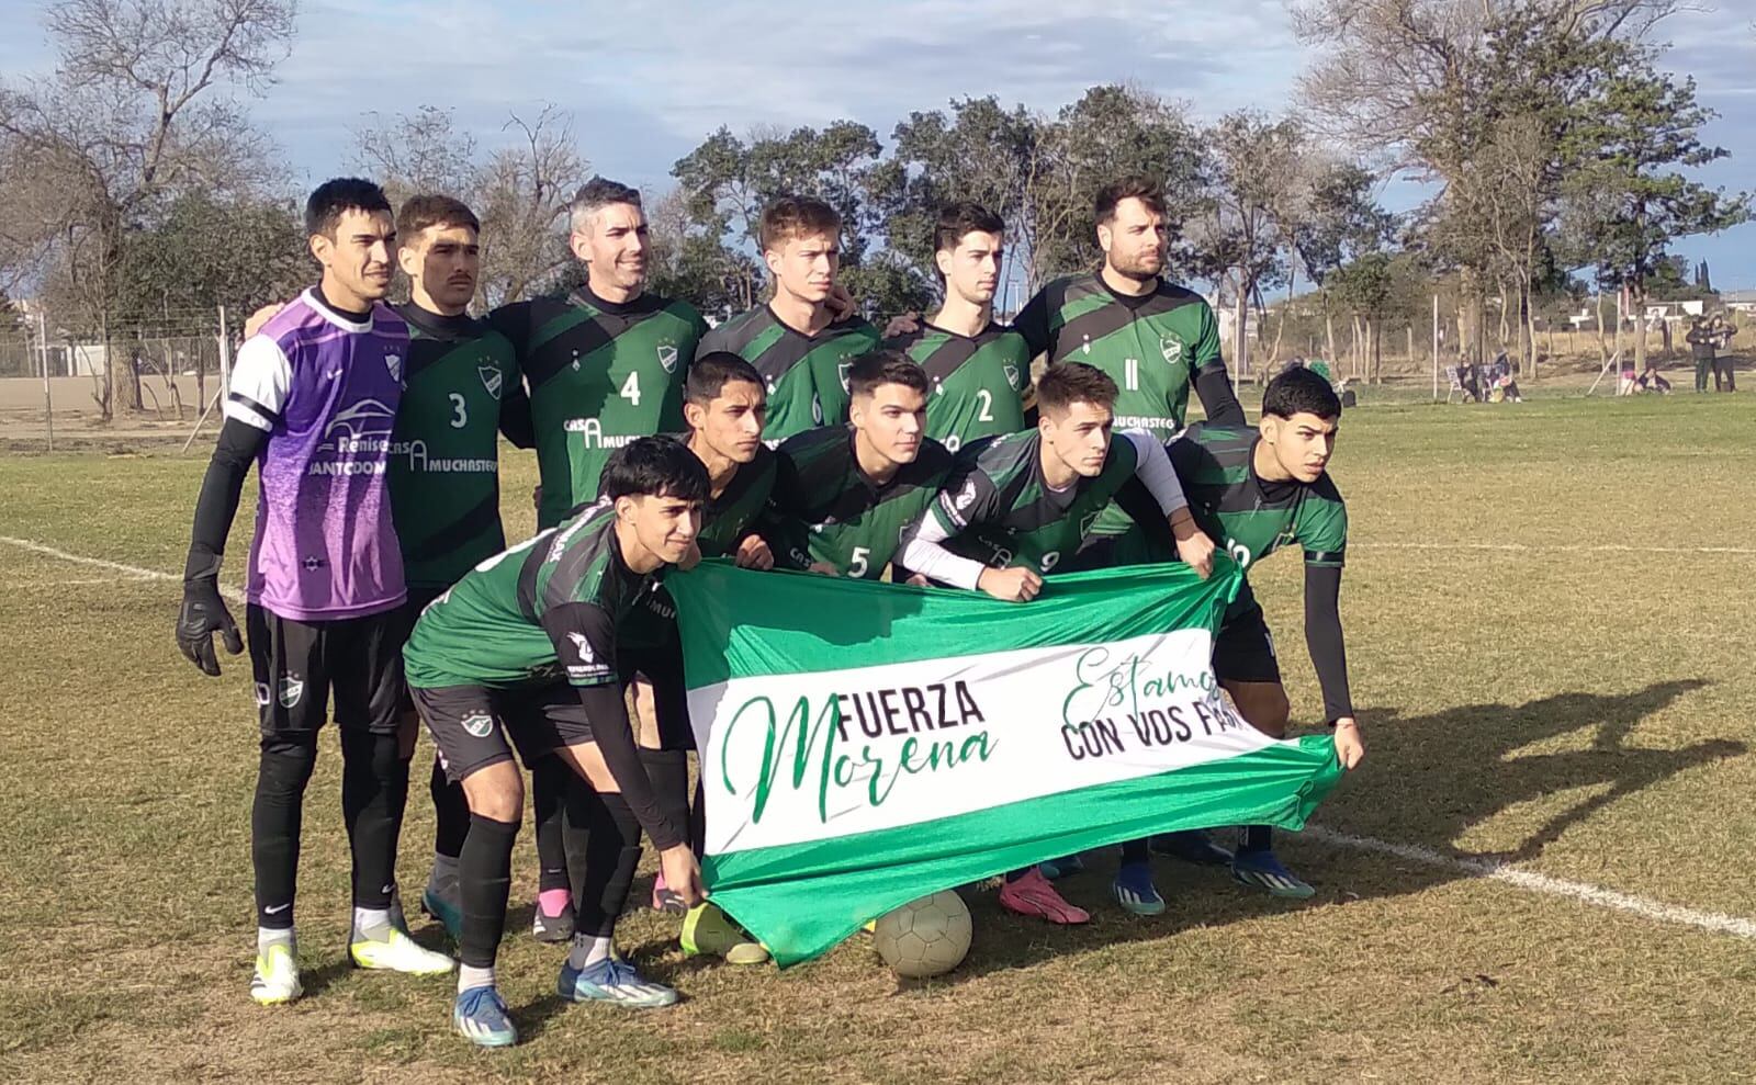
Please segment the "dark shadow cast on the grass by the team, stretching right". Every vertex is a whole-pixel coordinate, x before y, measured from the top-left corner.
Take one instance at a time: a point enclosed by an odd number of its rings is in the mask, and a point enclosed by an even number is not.
[[[1652,683],[1631,693],[1558,693],[1526,704],[1472,704],[1424,716],[1396,709],[1373,709],[1366,718],[1366,764],[1343,783],[1371,794],[1375,809],[1393,809],[1403,822],[1400,832],[1336,823],[1319,809],[1315,823],[1343,832],[1368,832],[1393,843],[1419,844],[1440,853],[1479,862],[1524,862],[1536,859],[1568,829],[1610,802],[1626,799],[1677,772],[1749,751],[1744,743],[1709,739],[1680,750],[1644,750],[1628,744],[1640,720],[1661,711],[1684,693],[1703,688],[1705,679]],[[1586,750],[1508,755],[1524,746],[1573,730],[1594,729]],[[1551,815],[1515,846],[1501,851],[1461,851],[1452,846],[1468,829],[1494,815],[1556,792],[1601,787],[1591,795]],[[1215,836],[1229,841],[1229,832]],[[1333,855],[1324,851],[1322,855]],[[1308,904],[1278,901],[1236,885],[1224,867],[1194,867],[1171,859],[1154,859],[1154,880],[1169,904],[1161,916],[1131,916],[1110,901],[1115,850],[1085,855],[1087,871],[1057,887],[1092,913],[1083,927],[1050,927],[999,908],[994,892],[964,890],[975,916],[975,943],[966,962],[934,983],[959,983],[994,971],[1029,966],[1064,953],[1099,952],[1106,946],[1157,941],[1178,931],[1224,925]],[[1321,855],[1301,860],[1299,873],[1317,887],[1313,904],[1345,902],[1349,897],[1387,897],[1421,892],[1465,876],[1440,866],[1403,869],[1394,881],[1326,885]],[[903,983],[899,990],[910,990]]]

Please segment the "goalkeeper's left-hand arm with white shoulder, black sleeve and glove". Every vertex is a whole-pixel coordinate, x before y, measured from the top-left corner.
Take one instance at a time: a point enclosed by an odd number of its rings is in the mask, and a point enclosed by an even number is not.
[[[177,646],[184,658],[205,674],[220,674],[212,634],[218,632],[230,655],[244,651],[237,622],[220,595],[220,564],[237,516],[249,465],[269,444],[269,434],[281,420],[291,390],[291,365],[272,339],[244,341],[232,369],[220,441],[202,476],[195,499],[195,525],[190,553],[183,562],[183,607],[177,611]]]

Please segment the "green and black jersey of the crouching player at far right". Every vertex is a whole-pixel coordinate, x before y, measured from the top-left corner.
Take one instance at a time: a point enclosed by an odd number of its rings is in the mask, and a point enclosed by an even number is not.
[[[1305,548],[1305,564],[1347,562],[1347,506],[1324,472],[1315,483],[1270,483],[1256,474],[1256,430],[1196,423],[1164,446],[1189,497],[1189,513],[1240,569],[1282,546]]]

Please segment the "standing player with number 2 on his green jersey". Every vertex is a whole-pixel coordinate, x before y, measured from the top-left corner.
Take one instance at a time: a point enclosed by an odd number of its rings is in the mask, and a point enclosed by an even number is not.
[[[927,370],[927,435],[948,451],[1024,428],[1031,348],[994,323],[1006,226],[978,204],[952,204],[932,232],[945,304],[922,327],[885,342]]]

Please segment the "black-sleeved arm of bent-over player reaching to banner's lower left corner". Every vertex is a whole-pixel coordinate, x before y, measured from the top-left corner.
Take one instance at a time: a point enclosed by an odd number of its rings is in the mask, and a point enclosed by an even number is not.
[[[646,776],[646,765],[641,764],[634,744],[627,702],[616,679],[616,634],[609,613],[592,602],[551,606],[543,613],[543,630],[555,644],[555,657],[567,674],[567,683],[579,695],[579,704],[592,722],[592,739],[641,829],[653,837],[653,846],[660,853],[673,848],[688,851],[685,827],[673,825],[666,816],[658,792]]]

